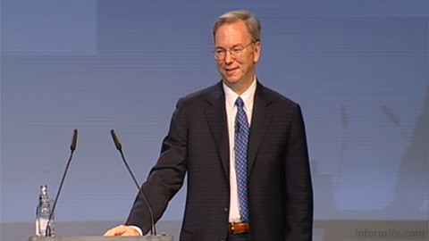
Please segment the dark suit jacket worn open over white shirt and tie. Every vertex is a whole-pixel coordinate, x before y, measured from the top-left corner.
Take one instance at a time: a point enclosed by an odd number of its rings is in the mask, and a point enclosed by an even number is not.
[[[229,152],[222,82],[181,98],[161,156],[142,185],[158,220],[188,174],[180,240],[226,239]],[[299,104],[258,83],[248,146],[251,240],[311,240],[312,194]],[[139,198],[126,224],[145,233],[150,229],[147,207]]]

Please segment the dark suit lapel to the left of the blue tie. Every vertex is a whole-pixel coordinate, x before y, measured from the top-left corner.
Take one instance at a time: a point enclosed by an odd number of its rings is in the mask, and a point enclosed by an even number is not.
[[[206,119],[214,137],[214,143],[221,156],[223,170],[226,177],[229,178],[229,153],[230,145],[228,142],[228,125],[225,110],[225,94],[223,93],[222,81],[214,86],[214,90],[207,96],[207,102],[210,105],[206,108]]]

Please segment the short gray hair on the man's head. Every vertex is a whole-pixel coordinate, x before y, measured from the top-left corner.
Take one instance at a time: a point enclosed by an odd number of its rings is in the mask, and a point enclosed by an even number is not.
[[[225,24],[235,23],[237,21],[244,21],[248,28],[248,34],[252,37],[252,41],[261,41],[261,22],[255,15],[246,10],[238,10],[223,13],[215,22],[213,26],[213,37],[216,36],[216,31]]]

